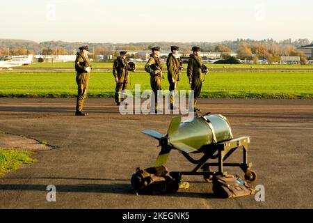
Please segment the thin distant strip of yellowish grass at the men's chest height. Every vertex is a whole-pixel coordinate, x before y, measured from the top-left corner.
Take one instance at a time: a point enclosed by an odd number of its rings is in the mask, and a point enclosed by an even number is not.
[[[113,63],[92,63],[93,68],[112,68]],[[184,68],[187,64],[183,64]],[[27,68],[73,68],[74,62],[65,63],[33,63]],[[136,63],[136,68],[144,68],[145,63]],[[163,64],[166,68],[166,64]],[[207,64],[208,68],[281,68],[281,69],[313,69],[313,65],[264,65],[264,64]]]

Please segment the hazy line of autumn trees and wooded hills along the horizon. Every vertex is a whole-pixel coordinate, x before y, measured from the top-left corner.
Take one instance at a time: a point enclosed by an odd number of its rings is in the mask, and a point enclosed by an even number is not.
[[[78,47],[88,45],[90,52],[93,53],[93,59],[97,59],[96,55],[113,55],[118,56],[118,51],[126,49],[129,51],[149,50],[154,46],[160,46],[161,49],[170,51],[171,45],[180,47],[180,52],[187,55],[191,52],[191,47],[197,45],[202,52],[236,52],[239,59],[253,60],[258,63],[259,59],[266,59],[269,63],[280,61],[280,56],[300,56],[303,64],[307,63],[305,54],[298,50],[298,47],[310,45],[312,42],[308,39],[298,39],[292,41],[287,40],[276,41],[273,39],[252,40],[237,39],[234,41],[225,40],[216,43],[209,42],[143,42],[143,43],[83,43],[83,42],[64,42],[64,41],[46,41],[36,43],[31,40],[10,40],[0,39],[0,55],[66,55],[76,54]],[[141,56],[133,55],[134,58]],[[227,57],[227,56],[226,56]],[[145,58],[141,58],[145,59]]]

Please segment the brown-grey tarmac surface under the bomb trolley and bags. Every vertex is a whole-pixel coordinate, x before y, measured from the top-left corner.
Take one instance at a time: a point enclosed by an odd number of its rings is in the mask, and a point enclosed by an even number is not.
[[[34,164],[0,178],[0,208],[313,208],[313,100],[202,99],[203,113],[223,114],[234,137],[252,137],[248,161],[264,185],[265,201],[255,196],[218,199],[202,177],[184,176],[190,188],[175,194],[131,193],[136,167],[152,167],[157,141],[141,134],[166,133],[171,115],[126,115],[112,98],[88,98],[88,116],[74,116],[74,98],[0,98],[0,138],[45,140]],[[8,135],[8,137],[6,137]],[[25,142],[26,144],[26,142]],[[241,153],[232,157],[241,160]],[[168,169],[194,165],[172,151]],[[243,176],[239,168],[226,169]],[[47,185],[56,202],[47,202]]]

